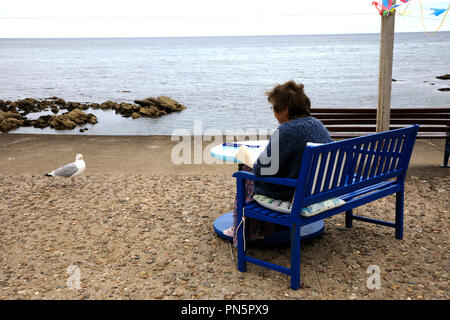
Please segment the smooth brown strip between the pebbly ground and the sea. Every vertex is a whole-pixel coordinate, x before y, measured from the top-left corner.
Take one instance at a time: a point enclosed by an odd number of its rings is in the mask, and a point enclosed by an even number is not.
[[[194,150],[196,141],[203,137],[191,136],[191,150]],[[225,138],[222,137],[224,142]],[[239,137],[235,139],[242,140]],[[213,140],[202,142],[202,163],[194,164],[191,155],[191,164],[176,165],[171,161],[171,152],[179,142],[171,141],[169,135],[0,134],[0,173],[44,174],[74,161],[75,154],[82,153],[87,164],[86,174],[231,176],[237,164],[225,164],[210,157],[207,149],[220,143]],[[408,176],[447,176],[448,169],[440,168],[444,145],[444,139],[417,139]]]

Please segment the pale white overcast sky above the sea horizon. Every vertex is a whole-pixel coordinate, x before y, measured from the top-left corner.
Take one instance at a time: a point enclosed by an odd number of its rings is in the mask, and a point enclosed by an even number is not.
[[[381,0],[380,0],[381,1]],[[400,0],[397,0],[400,3]],[[0,38],[377,33],[372,0],[2,0]],[[422,0],[425,9],[449,1]],[[423,32],[419,1],[396,32]],[[434,31],[439,17],[425,16]],[[450,31],[450,14],[441,27]]]

